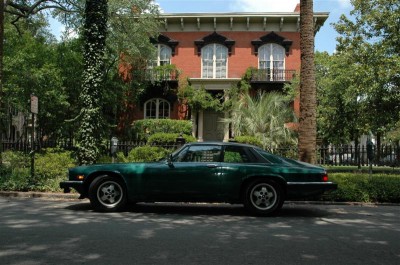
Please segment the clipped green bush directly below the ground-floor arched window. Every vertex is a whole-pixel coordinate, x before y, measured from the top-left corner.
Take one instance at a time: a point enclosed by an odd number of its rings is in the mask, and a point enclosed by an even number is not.
[[[155,133],[192,134],[192,121],[171,119],[144,119],[133,122],[132,137],[138,140],[147,140]]]

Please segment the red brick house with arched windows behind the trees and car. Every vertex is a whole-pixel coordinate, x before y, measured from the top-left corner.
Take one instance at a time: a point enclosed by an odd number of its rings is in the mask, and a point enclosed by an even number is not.
[[[315,13],[315,32],[328,13]],[[254,67],[251,86],[264,91],[282,89],[300,71],[300,13],[180,13],[162,14],[161,35],[155,66],[173,64],[193,87],[223,93],[236,85],[249,67]],[[149,89],[136,106],[133,119],[183,119],[186,106],[174,94],[177,75]],[[298,102],[294,104],[298,110]],[[199,141],[227,140],[229,127],[219,122],[225,113],[191,112],[193,135]],[[186,117],[187,118],[187,117]]]

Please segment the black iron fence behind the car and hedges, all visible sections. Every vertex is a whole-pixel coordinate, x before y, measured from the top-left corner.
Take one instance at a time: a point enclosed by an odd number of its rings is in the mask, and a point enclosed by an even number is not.
[[[104,154],[109,154],[111,150],[111,141],[107,141],[103,145]],[[145,141],[119,141],[116,147],[117,152],[124,155],[136,147],[144,146]],[[43,148],[62,148],[66,150],[75,150],[73,141],[41,141],[35,142],[35,150]],[[179,144],[159,145],[170,150],[178,148]],[[14,150],[29,153],[31,151],[31,143],[28,141],[2,141],[3,150]],[[288,158],[297,159],[297,148],[279,148],[270,150],[272,153]],[[317,148],[317,163],[321,165],[335,166],[400,166],[400,147],[393,145],[384,145],[379,149],[374,147],[372,153],[369,153],[367,146],[320,146]]]

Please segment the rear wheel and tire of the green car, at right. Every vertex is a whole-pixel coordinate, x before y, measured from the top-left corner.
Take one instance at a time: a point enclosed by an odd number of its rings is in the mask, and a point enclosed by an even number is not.
[[[283,201],[281,185],[272,180],[257,179],[246,187],[243,205],[252,214],[270,216],[282,208]]]

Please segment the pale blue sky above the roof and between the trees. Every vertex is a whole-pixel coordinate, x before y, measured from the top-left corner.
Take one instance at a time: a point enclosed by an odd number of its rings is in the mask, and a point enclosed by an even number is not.
[[[164,13],[219,12],[293,12],[300,0],[155,0]],[[329,12],[329,17],[315,36],[315,49],[335,52],[338,34],[331,23],[342,14],[349,16],[350,0],[314,0],[314,12]],[[52,31],[58,37],[63,26],[52,21]]]

